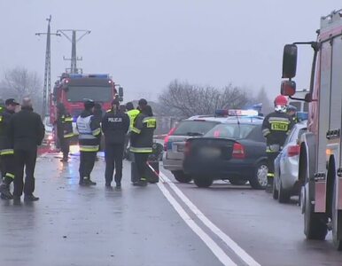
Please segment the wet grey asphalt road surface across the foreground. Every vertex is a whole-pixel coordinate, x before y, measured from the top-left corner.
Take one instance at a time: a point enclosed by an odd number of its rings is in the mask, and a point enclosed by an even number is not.
[[[342,265],[330,235],[323,242],[304,239],[295,202],[279,205],[265,192],[223,183],[208,189],[176,184],[182,200],[170,184],[133,187],[127,161],[122,190],[109,190],[103,158],[92,175],[97,186],[80,187],[78,157],[68,164],[56,157],[38,160],[35,194],[41,200],[1,200],[1,266],[253,265],[244,261],[248,255],[260,265]],[[191,212],[187,199],[203,214]],[[203,216],[246,254],[234,253]]]

